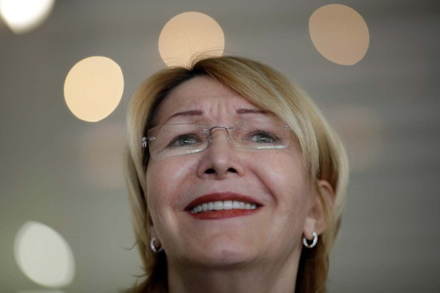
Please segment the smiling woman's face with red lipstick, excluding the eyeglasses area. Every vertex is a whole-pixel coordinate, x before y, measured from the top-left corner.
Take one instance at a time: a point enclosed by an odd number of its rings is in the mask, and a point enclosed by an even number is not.
[[[223,84],[200,76],[177,86],[157,113],[157,126],[234,126],[263,114]],[[314,196],[296,141],[288,148],[234,148],[216,128],[206,150],[150,159],[148,209],[168,264],[206,267],[298,261]],[[193,213],[197,205],[233,201],[256,209]],[[214,204],[215,205],[215,204]],[[236,206],[238,207],[238,206]],[[248,205],[249,207],[249,205]]]

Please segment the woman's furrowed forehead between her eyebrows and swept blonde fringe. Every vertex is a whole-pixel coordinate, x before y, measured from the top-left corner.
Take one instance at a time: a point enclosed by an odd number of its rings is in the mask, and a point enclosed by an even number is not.
[[[221,82],[208,76],[197,76],[168,94],[159,106],[156,121],[157,125],[165,124],[169,117],[186,111],[200,111],[203,113],[201,116],[217,118],[234,115],[236,110],[243,108],[259,110]]]

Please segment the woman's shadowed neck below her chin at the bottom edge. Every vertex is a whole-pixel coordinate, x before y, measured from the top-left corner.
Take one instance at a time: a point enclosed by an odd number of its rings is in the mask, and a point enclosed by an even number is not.
[[[212,293],[295,292],[298,257],[277,263],[212,268],[168,262],[168,290]]]

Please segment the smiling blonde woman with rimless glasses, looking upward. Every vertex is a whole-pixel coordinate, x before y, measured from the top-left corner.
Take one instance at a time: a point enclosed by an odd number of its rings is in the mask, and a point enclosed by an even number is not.
[[[148,78],[128,114],[132,292],[325,292],[348,166],[304,93],[206,58]]]

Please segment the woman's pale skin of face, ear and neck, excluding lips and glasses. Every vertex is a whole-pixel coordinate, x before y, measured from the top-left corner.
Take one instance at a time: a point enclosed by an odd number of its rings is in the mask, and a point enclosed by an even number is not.
[[[166,97],[157,126],[230,126],[243,115],[261,116],[254,110],[259,108],[247,99],[201,76]],[[312,239],[325,229],[298,143],[292,137],[281,150],[237,149],[221,129],[212,139],[203,152],[148,162],[151,228],[166,253],[169,292],[294,292],[303,236]],[[318,186],[331,201],[329,183]],[[196,219],[185,210],[199,196],[226,191],[250,196],[261,207],[219,220]]]

